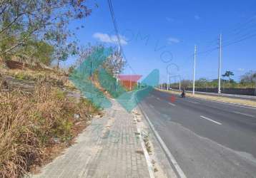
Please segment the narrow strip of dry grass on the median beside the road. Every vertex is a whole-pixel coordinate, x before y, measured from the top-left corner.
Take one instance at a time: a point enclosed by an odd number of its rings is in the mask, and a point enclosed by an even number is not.
[[[174,94],[180,94],[181,92],[179,91],[174,91],[174,90],[162,90],[167,93],[174,93]],[[256,101],[252,100],[241,100],[241,99],[236,99],[236,98],[227,98],[223,96],[214,96],[214,95],[200,95],[200,94],[195,94],[192,95],[192,93],[186,93],[186,96],[193,97],[193,98],[202,98],[206,100],[215,100],[215,101],[220,101],[220,102],[225,102],[225,103],[236,103],[240,105],[248,105],[252,107],[256,107]]]

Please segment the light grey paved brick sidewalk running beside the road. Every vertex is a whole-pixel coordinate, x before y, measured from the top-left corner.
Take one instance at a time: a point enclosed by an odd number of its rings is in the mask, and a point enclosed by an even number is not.
[[[149,178],[132,114],[114,100],[105,112],[79,135],[76,144],[31,177]]]

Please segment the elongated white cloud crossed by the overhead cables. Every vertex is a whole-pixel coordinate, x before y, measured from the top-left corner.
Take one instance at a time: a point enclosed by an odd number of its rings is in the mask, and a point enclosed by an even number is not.
[[[104,43],[117,44],[117,41],[118,41],[117,36],[115,35],[109,36],[107,33],[94,33],[92,36]],[[122,45],[127,45],[127,39],[124,36],[120,36],[120,42]]]

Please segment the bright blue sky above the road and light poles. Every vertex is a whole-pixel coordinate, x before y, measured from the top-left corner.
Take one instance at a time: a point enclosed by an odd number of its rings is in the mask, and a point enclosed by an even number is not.
[[[74,22],[69,28],[84,25],[77,31],[80,43],[84,45],[103,42],[114,46],[116,36],[107,0],[96,2],[99,7],[93,7],[89,18]],[[89,4],[92,6],[94,1]],[[124,53],[134,70],[132,73],[144,76],[158,68],[161,78],[167,80],[169,65],[170,75],[192,79],[195,44],[198,53],[202,53],[217,47],[220,33],[224,45],[256,34],[254,0],[112,0],[112,5]],[[65,65],[73,62],[74,58],[69,59]],[[199,54],[196,78],[217,78],[217,66],[217,50]],[[222,73],[225,70],[232,70],[235,80],[249,70],[256,70],[256,36],[223,48]],[[129,68],[124,73],[129,74]]]

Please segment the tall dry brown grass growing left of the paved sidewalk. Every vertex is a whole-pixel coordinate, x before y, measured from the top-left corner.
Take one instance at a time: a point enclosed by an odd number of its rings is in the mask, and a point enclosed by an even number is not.
[[[72,142],[76,123],[98,110],[51,85],[37,85],[31,94],[0,90],[0,111],[0,177],[22,177],[49,158],[49,148]]]

